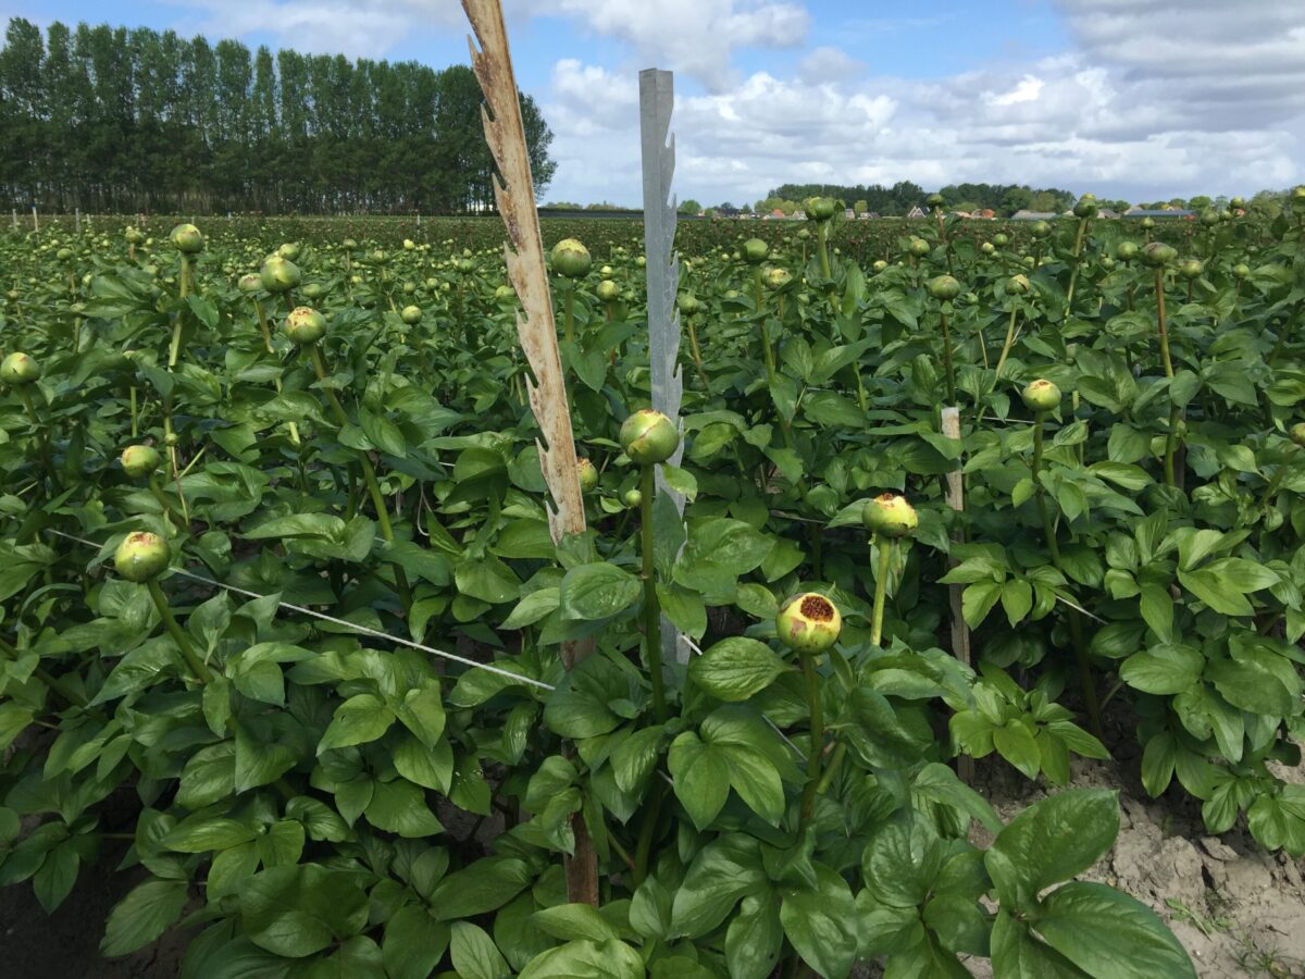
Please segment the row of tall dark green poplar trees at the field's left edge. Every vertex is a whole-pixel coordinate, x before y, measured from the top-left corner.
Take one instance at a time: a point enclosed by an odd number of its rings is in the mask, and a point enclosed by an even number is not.
[[[13,18],[0,206],[72,213],[468,213],[493,206],[470,68]],[[522,97],[536,193],[552,133]]]

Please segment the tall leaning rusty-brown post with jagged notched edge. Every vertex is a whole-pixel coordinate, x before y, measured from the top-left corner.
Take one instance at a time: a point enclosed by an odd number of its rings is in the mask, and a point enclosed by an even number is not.
[[[521,99],[512,70],[500,0],[462,0],[462,9],[476,35],[475,40],[468,38],[467,44],[471,48],[471,67],[485,97],[480,115],[485,141],[497,168],[493,192],[508,231],[504,245],[508,279],[521,302],[517,335],[535,376],[534,381],[526,379],[526,393],[542,436],[539,467],[551,496],[545,506],[548,527],[553,540],[560,542],[564,536],[585,531],[585,501],[579,488],[566,380],[557,349],[548,269],[544,265],[544,241],[535,209],[526,129],[521,120]],[[479,51],[476,42],[480,44]],[[562,666],[570,670],[591,649],[591,642],[564,642]],[[583,812],[572,816],[572,831],[576,835],[576,850],[565,860],[566,898],[572,903],[596,907],[598,855]]]

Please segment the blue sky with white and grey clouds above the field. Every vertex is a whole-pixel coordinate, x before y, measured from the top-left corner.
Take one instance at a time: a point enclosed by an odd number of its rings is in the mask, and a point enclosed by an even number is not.
[[[1131,201],[1305,181],[1305,0],[504,0],[545,197],[637,205],[638,70],[683,198],[1028,183]],[[0,16],[466,63],[457,0],[0,0]]]

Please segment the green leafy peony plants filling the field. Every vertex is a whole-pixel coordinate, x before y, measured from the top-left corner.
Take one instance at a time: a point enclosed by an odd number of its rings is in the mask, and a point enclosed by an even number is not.
[[[1002,825],[950,762],[1057,786],[1116,748],[1069,683],[1082,640],[1088,689],[1138,718],[1148,791],[1305,851],[1305,799],[1275,774],[1301,734],[1298,225],[1165,232],[1205,258],[1190,286],[1160,272],[1172,373],[1156,273],[1105,262],[1126,226],[988,255],[953,219],[945,241],[865,225],[835,218],[826,264],[823,235],[749,225],[791,273],[767,290],[732,258],[739,226],[685,222],[701,305],[662,470],[683,523],[625,503],[620,422],[650,399],[638,240],[615,222],[587,243],[596,269],[559,299],[598,482],[589,530],[556,544],[488,225],[428,222],[412,248],[365,221],[204,228],[184,299],[166,228],[132,255],[116,227],[0,239],[0,354],[42,365],[0,389],[0,882],[52,909],[89,862],[138,865],[103,950],[194,924],[194,979],[950,976],[967,956],[1002,979],[1191,975],[1144,906],[1074,880],[1114,839],[1113,794]],[[238,287],[286,236],[286,305],[328,321],[311,350],[283,300]],[[938,433],[924,288],[949,258],[959,440]],[[1058,414],[1028,415],[1035,377]],[[159,448],[155,484],[123,470],[130,444]],[[963,513],[942,497],[958,467]],[[919,526],[872,548],[865,503],[889,491]],[[153,587],[106,564],[134,530],[174,553]],[[937,645],[951,587],[974,670]],[[803,591],[842,614],[818,659],[774,632]],[[652,595],[701,650],[686,668],[651,667]],[[564,868],[590,850],[596,909]]]

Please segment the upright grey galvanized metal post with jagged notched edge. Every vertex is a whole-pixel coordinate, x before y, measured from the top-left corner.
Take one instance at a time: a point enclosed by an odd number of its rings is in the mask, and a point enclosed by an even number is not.
[[[675,107],[675,76],[658,68],[639,72],[639,133],[643,155],[643,252],[649,294],[649,367],[652,407],[680,424],[680,315],[675,299],[680,288],[680,262],[675,255],[675,137],[671,111]],[[671,457],[680,465],[684,444]],[[666,496],[684,518],[684,496],[656,474],[658,496]],[[662,617],[662,659],[689,662],[689,645],[666,616]]]

